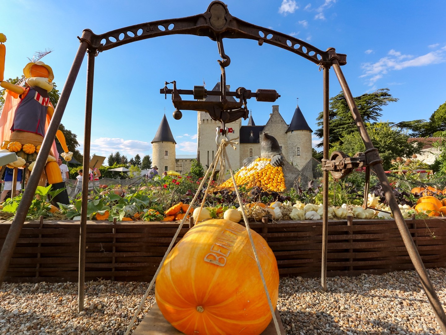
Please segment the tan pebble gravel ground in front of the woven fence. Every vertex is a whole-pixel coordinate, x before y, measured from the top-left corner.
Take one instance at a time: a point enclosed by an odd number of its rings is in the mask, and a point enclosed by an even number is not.
[[[428,270],[446,305],[446,269]],[[416,272],[327,279],[289,277],[277,303],[287,334],[441,334]],[[11,284],[0,289],[0,334],[124,334],[148,283],[96,281],[86,285],[77,312],[77,284]],[[138,321],[154,302],[149,296]]]

